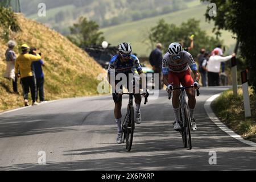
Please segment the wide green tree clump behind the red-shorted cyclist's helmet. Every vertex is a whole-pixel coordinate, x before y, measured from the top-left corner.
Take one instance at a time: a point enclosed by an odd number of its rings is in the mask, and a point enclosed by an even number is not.
[[[172,42],[183,43],[184,47],[190,46],[189,37],[195,35],[194,48],[189,51],[192,56],[197,56],[201,48],[211,51],[220,40],[207,35],[207,33],[200,28],[200,21],[189,19],[187,22],[181,23],[178,27],[175,24],[168,24],[163,19],[159,20],[155,27],[152,27],[149,34],[151,44],[157,42],[163,44],[165,51]]]

